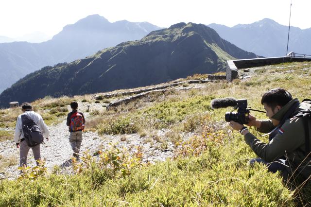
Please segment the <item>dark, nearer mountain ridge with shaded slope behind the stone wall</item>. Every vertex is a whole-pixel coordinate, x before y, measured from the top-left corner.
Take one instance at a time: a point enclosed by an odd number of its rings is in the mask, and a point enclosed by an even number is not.
[[[3,91],[0,105],[6,106],[12,99],[24,102],[47,95],[72,96],[148,86],[195,73],[223,71],[227,59],[256,57],[203,24],[178,23],[85,59],[33,72]]]

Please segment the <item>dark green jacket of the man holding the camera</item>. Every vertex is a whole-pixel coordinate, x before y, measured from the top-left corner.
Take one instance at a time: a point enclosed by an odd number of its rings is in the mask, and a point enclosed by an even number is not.
[[[289,108],[299,102],[297,99],[290,101],[283,106],[272,118],[281,120]],[[298,111],[310,108],[311,104],[303,102],[295,109],[293,117]],[[311,121],[309,121],[310,129]],[[261,122],[259,132],[269,133],[276,126],[270,120]],[[311,132],[310,132],[311,133]],[[245,142],[260,158],[267,162],[272,162],[280,156],[286,157],[286,170],[290,175],[301,174],[308,178],[311,175],[311,156],[306,158],[305,155],[305,130],[302,118],[290,118],[280,127],[276,136],[268,143],[264,143],[256,138],[253,134],[247,133],[244,136]],[[297,169],[297,170],[296,170]]]

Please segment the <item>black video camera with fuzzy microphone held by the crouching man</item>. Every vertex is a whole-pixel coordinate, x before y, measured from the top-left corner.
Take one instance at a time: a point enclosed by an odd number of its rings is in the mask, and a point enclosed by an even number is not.
[[[224,98],[224,99],[213,99],[211,101],[212,108],[226,108],[228,106],[233,106],[234,109],[238,109],[238,112],[226,112],[225,121],[237,121],[241,124],[247,124],[249,121],[249,112],[259,111],[255,109],[247,108],[247,99],[235,100],[234,98]],[[259,111],[266,113],[264,111]]]

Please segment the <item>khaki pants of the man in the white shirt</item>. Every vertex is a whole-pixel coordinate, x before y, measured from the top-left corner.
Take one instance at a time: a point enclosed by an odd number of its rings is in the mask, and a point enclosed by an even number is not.
[[[35,161],[37,165],[39,165],[39,160],[41,158],[40,155],[40,144],[38,144],[35,147],[29,147],[27,145],[27,142],[25,140],[20,142],[20,147],[19,147],[19,166],[27,166],[27,156],[30,148],[33,150]]]

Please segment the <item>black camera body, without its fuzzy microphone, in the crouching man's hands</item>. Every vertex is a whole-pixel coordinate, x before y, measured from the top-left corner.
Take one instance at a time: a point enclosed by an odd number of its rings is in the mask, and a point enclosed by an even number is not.
[[[247,124],[249,121],[249,112],[247,108],[247,99],[236,100],[237,105],[235,108],[238,109],[238,112],[226,112],[225,121],[237,121],[241,124]]]

